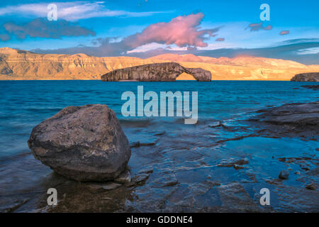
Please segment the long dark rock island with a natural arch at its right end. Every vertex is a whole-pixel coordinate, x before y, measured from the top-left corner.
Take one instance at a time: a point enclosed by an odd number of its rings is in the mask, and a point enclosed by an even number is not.
[[[201,68],[182,67],[175,62],[155,63],[114,70],[101,76],[102,81],[175,81],[179,74],[186,72],[198,81],[211,81],[211,72]]]

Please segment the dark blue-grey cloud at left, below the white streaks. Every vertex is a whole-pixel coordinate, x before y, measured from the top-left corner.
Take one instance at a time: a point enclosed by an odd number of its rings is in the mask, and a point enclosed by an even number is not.
[[[96,33],[88,28],[81,27],[77,23],[65,20],[47,21],[46,18],[36,18],[28,23],[4,23],[6,39],[13,37],[24,40],[26,37],[32,38],[62,38],[63,36],[88,36]]]

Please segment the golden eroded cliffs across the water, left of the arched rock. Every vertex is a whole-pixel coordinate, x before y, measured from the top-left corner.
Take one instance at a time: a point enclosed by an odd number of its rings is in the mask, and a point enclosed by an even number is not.
[[[101,79],[106,72],[154,62],[162,61],[84,54],[40,55],[0,48],[0,79]]]

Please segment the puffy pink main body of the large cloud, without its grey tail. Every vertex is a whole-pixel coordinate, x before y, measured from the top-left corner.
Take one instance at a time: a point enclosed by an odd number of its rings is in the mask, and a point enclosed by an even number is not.
[[[203,19],[203,13],[178,16],[167,23],[154,23],[145,28],[141,33],[130,35],[123,43],[131,48],[137,48],[147,43],[161,43],[178,45],[179,47],[206,47],[204,40],[214,36],[218,28],[202,29],[199,26]]]

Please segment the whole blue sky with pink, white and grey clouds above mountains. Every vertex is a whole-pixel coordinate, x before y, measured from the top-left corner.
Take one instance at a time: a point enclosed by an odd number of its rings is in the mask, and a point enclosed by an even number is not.
[[[98,57],[254,55],[319,65],[318,9],[318,0],[1,1],[0,48]]]

